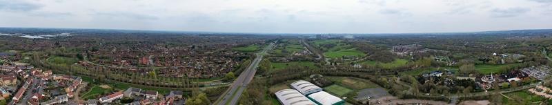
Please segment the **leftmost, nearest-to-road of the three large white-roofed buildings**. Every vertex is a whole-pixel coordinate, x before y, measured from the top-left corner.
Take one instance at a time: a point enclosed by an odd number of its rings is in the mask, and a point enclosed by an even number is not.
[[[283,105],[316,105],[315,102],[308,99],[297,90],[284,89],[274,93]]]

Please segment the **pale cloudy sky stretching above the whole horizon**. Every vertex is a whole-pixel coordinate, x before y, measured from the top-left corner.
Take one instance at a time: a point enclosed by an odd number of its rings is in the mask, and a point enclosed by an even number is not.
[[[0,27],[259,33],[552,28],[552,0],[0,0]]]

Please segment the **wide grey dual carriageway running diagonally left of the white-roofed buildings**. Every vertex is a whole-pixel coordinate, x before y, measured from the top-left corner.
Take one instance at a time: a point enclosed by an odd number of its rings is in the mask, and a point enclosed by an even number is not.
[[[239,77],[237,77],[233,84],[226,90],[226,92],[223,94],[223,96],[219,97],[219,100],[217,105],[224,105],[224,104],[230,104],[234,105],[237,104],[239,97],[242,95],[242,92],[247,87],[247,84],[251,82],[253,77],[255,77],[255,73],[257,72],[257,66],[259,66],[259,62],[262,61],[263,55],[266,53],[266,51],[272,49],[274,47],[275,43],[271,43],[269,46],[264,48],[260,53],[257,53],[257,57],[251,62],[251,64],[242,72]],[[229,101],[229,102],[228,102]]]

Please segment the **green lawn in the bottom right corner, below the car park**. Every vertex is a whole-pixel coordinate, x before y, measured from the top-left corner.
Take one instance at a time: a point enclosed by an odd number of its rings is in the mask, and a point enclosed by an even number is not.
[[[531,94],[527,90],[521,90],[521,91],[517,91],[517,92],[513,92],[513,93],[506,93],[504,95],[506,95],[510,98],[521,97],[523,99],[523,102],[540,102],[541,100],[544,99],[544,97],[540,97],[539,95]],[[509,99],[507,97],[502,97],[502,103],[503,104],[508,104]]]

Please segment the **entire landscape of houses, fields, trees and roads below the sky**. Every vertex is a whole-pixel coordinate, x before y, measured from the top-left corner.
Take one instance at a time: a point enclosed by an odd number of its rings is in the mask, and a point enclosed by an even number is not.
[[[552,30],[0,33],[0,104],[552,102]]]

